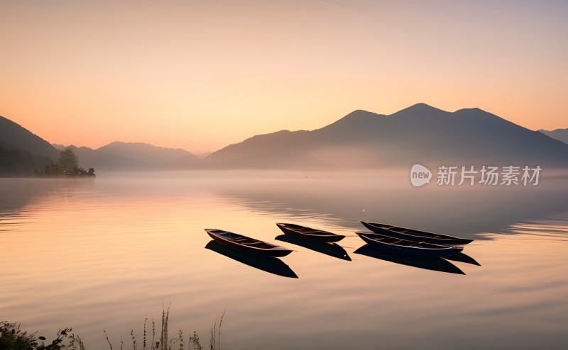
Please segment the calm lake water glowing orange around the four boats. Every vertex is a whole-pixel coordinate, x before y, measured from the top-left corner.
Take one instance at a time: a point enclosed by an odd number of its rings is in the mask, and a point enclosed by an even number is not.
[[[106,329],[130,349],[130,329],[141,341],[145,317],[171,305],[170,334],[196,329],[204,344],[226,310],[223,349],[568,349],[566,177],[413,188],[405,173],[99,175],[0,179],[0,198],[0,320],[48,339],[73,327],[109,349]],[[476,241],[452,260],[400,259],[362,247],[358,220]],[[267,264],[203,230],[279,242],[275,222],[349,237],[323,252],[280,242],[297,252]]]

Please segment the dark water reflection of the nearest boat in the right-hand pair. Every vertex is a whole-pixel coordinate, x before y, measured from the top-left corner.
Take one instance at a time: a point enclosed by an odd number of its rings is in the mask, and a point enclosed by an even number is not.
[[[446,259],[442,259],[439,256],[411,256],[403,254],[391,254],[378,249],[373,249],[368,244],[360,247],[354,253],[371,256],[371,258],[375,259],[391,261],[395,264],[413,266],[419,269],[465,275],[464,271],[461,271],[457,266],[447,261]]]

